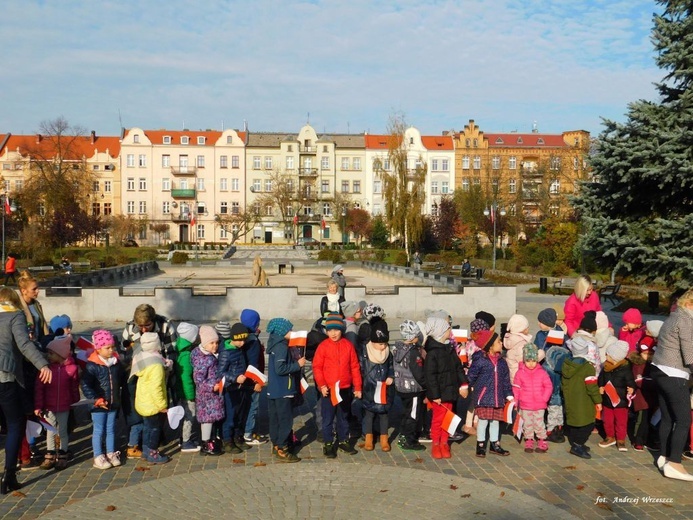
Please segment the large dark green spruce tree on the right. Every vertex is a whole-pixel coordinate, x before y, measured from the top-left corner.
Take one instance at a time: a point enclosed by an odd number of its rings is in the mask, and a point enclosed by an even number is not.
[[[584,246],[617,272],[693,279],[693,4],[658,0],[652,40],[661,100],[639,100],[622,123],[605,120],[592,158],[595,181],[574,199]]]

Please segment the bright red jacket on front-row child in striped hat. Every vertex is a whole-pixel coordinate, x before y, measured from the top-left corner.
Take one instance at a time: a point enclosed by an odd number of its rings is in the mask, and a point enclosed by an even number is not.
[[[361,368],[351,342],[344,337],[339,341],[323,340],[313,358],[313,377],[318,388],[333,388],[339,381],[339,388],[353,386],[355,392],[360,392]]]

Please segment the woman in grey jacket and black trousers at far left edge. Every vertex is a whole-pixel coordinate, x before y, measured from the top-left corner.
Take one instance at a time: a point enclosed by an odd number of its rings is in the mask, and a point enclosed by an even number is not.
[[[7,421],[5,472],[0,481],[3,495],[21,487],[17,482],[17,455],[25,428],[24,394],[33,394],[33,385],[25,387],[22,356],[39,370],[42,383],[51,382],[48,361],[29,339],[21,307],[16,292],[7,287],[0,289],[0,408]]]

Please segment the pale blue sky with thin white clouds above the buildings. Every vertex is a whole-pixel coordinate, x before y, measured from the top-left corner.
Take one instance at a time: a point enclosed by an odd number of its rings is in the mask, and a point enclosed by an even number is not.
[[[603,129],[664,76],[654,0],[4,0],[0,133]]]

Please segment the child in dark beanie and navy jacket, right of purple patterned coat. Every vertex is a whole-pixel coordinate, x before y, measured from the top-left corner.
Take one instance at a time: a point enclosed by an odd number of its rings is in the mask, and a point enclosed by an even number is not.
[[[234,323],[231,337],[219,349],[217,381],[224,381],[224,412],[226,418],[222,425],[222,438],[229,447],[230,453],[242,453],[250,449],[243,440],[247,408],[245,392],[241,385],[245,382],[245,371],[248,365],[243,353],[243,345],[248,339],[248,328],[242,323]]]

